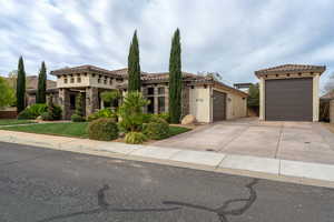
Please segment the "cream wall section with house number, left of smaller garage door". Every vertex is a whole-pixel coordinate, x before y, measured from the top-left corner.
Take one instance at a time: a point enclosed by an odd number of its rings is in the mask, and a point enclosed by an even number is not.
[[[189,89],[190,114],[198,122],[210,122],[210,88],[195,87]]]

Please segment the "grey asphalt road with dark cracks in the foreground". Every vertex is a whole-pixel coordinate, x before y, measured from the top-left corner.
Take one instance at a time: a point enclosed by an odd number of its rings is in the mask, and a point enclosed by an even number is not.
[[[0,222],[326,222],[334,190],[0,142]]]

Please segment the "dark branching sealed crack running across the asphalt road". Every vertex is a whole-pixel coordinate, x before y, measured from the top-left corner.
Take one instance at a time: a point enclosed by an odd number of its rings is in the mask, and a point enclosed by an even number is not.
[[[245,213],[252,204],[256,201],[257,194],[254,189],[254,185],[257,184],[259,180],[254,179],[250,183],[246,184],[246,188],[249,191],[249,196],[246,199],[232,199],[227,200],[223,203],[219,208],[208,208],[204,205],[193,204],[193,203],[186,203],[186,202],[178,202],[178,201],[163,201],[163,204],[166,205],[176,205],[174,208],[143,208],[143,209],[126,209],[126,208],[111,208],[110,204],[106,201],[106,194],[105,192],[109,190],[109,185],[105,184],[100,190],[97,192],[98,198],[98,208],[86,210],[86,211],[77,211],[72,213],[65,213],[60,215],[50,216],[43,220],[39,220],[37,222],[50,222],[56,221],[60,219],[68,219],[73,218],[78,215],[90,215],[95,213],[100,212],[169,212],[169,211],[177,211],[181,210],[183,208],[189,208],[189,209],[196,209],[196,210],[203,210],[208,211],[210,213],[216,213],[220,222],[228,222],[227,216],[228,215],[242,215]],[[245,204],[238,209],[234,210],[227,210],[230,203],[235,202],[245,202]]]

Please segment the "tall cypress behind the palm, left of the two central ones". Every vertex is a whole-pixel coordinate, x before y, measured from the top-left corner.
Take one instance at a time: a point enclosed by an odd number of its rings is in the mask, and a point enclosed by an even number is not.
[[[139,44],[137,38],[137,30],[134,33],[134,38],[130,44],[129,57],[128,57],[128,90],[140,91],[140,63],[139,63]]]

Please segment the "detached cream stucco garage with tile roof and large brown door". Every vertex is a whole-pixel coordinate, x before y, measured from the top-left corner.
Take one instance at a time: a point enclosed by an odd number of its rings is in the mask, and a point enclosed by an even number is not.
[[[259,119],[318,121],[318,83],[326,67],[284,64],[255,71],[259,79]]]

